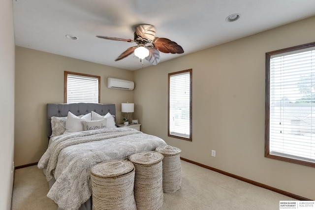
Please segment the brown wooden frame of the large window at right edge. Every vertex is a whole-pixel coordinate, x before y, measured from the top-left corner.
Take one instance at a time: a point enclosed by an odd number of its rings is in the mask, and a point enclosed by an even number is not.
[[[303,50],[307,48],[315,47],[315,42],[302,44],[294,47],[284,48],[281,50],[271,51],[266,53],[266,78],[265,78],[265,157],[272,158],[276,160],[281,160],[285,162],[295,163],[304,166],[315,167],[315,162],[310,162],[301,159],[295,159],[293,156],[288,157],[290,155],[280,156],[276,154],[270,153],[270,59],[272,56],[284,53],[290,53],[297,50]]]

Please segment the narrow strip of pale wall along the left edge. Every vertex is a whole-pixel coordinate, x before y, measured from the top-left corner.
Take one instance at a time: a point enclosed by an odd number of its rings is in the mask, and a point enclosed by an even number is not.
[[[12,0],[0,3],[0,209],[10,210],[14,155],[14,27]]]

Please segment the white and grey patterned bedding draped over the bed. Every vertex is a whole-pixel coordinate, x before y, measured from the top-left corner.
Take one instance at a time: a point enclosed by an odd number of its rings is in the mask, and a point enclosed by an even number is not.
[[[156,136],[127,127],[64,134],[50,143],[38,168],[47,168],[47,180],[53,174],[56,179],[47,196],[61,209],[77,210],[92,195],[90,171],[95,164],[164,145]]]

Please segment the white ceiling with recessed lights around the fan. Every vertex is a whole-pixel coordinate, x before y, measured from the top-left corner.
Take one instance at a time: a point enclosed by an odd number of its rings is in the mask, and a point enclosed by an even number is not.
[[[142,68],[134,55],[114,61],[135,43],[133,26],[156,27],[184,54],[160,53],[160,62],[315,15],[315,0],[12,0],[15,44],[123,69]],[[228,15],[239,13],[236,22]],[[78,40],[65,37],[72,34]],[[151,65],[147,60],[143,67]]]

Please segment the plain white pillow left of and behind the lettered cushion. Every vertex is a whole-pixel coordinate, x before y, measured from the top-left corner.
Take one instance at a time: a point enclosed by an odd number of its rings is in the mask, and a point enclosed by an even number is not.
[[[71,112],[68,112],[67,120],[65,122],[65,131],[63,134],[73,133],[78,131],[83,131],[82,121],[90,121],[91,113],[84,115],[79,118],[78,116],[73,115]]]

